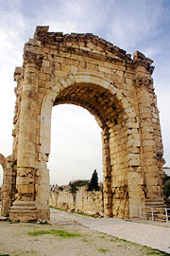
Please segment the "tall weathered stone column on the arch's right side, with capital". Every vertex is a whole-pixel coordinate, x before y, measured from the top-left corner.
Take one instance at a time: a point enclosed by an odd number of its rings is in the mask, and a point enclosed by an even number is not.
[[[146,202],[162,201],[162,180],[159,176],[157,161],[156,137],[154,135],[154,89],[151,74],[152,61],[145,58],[140,52],[135,52],[134,63],[136,65],[136,90],[139,107],[140,136],[141,136],[141,160],[144,172],[144,186]],[[159,117],[158,117],[159,119]]]

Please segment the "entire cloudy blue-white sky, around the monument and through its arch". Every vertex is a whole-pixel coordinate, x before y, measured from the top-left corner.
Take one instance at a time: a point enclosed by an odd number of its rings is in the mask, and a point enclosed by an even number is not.
[[[92,32],[133,54],[154,60],[165,166],[170,166],[170,0],[0,0],[0,153],[12,152],[13,72],[36,26]],[[93,116],[74,105],[53,108],[51,184],[102,176],[101,131]],[[2,168],[0,167],[0,184]]]

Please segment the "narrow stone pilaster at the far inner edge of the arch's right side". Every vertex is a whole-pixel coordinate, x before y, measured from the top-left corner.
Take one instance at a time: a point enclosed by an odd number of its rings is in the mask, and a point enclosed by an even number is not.
[[[102,132],[103,151],[103,192],[104,192],[104,215],[112,217],[112,190],[111,190],[111,167],[110,167],[110,134]]]

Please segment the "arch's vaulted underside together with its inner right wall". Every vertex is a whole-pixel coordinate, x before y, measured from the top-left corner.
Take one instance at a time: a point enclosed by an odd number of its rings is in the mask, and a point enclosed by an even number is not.
[[[127,127],[121,101],[100,85],[82,82],[63,89],[53,105],[59,103],[86,108],[101,127],[105,215],[127,216]]]

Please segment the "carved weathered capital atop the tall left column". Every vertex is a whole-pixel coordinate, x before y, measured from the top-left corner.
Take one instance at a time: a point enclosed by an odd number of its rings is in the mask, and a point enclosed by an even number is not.
[[[42,66],[43,57],[44,56],[42,54],[33,53],[28,50],[24,51],[25,64],[35,64],[40,68]]]

